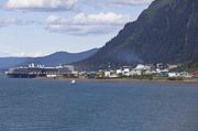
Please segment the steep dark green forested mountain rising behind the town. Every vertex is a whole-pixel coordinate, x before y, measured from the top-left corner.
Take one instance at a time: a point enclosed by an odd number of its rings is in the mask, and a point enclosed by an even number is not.
[[[135,63],[198,61],[198,0],[155,0],[136,21],[95,55],[76,63],[84,69]]]

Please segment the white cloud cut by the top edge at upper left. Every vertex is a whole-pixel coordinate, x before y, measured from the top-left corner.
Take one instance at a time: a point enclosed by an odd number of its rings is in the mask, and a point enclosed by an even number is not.
[[[6,9],[23,11],[63,11],[75,7],[77,0],[8,0]]]

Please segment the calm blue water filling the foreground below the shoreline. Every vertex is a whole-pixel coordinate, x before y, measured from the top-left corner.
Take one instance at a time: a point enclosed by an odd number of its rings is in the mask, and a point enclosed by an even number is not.
[[[0,131],[198,131],[198,85],[0,78]]]

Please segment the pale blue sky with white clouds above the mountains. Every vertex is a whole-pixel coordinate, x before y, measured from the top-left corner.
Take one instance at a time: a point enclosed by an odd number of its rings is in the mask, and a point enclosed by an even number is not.
[[[103,46],[153,0],[0,0],[0,57]]]

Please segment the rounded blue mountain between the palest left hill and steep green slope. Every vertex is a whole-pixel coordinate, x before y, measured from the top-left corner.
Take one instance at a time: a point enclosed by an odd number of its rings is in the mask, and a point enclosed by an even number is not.
[[[41,64],[45,66],[58,66],[61,64],[70,64],[77,61],[88,58],[89,56],[94,55],[97,51],[98,48],[94,48],[81,53],[57,52],[44,57],[28,58],[25,62],[22,63],[22,65],[28,65],[31,63]]]

